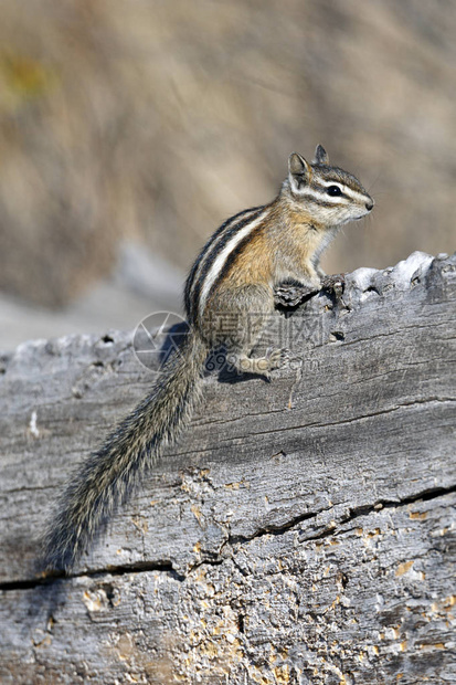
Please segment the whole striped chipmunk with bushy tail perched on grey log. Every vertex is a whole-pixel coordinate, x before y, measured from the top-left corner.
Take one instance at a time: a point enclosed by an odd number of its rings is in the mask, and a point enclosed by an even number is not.
[[[150,394],[71,478],[45,535],[46,569],[68,571],[146,468],[177,440],[201,397],[211,350],[223,345],[235,369],[266,378],[283,365],[280,349],[251,356],[274,309],[275,288],[285,282],[319,291],[322,251],[342,224],[361,219],[373,204],[354,176],[329,165],[319,145],[311,164],[290,155],[273,202],[240,212],[215,231],[187,278],[184,342]],[[229,337],[227,315],[237,322]]]

